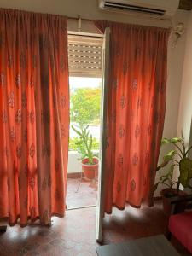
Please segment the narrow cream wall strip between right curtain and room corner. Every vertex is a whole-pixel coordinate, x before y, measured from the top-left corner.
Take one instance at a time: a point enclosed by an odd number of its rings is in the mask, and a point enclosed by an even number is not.
[[[186,15],[186,16],[183,16]],[[187,28],[189,23],[189,12],[177,12],[174,17],[174,23],[183,22]],[[163,137],[176,137],[177,136],[177,124],[178,124],[178,112],[180,106],[180,94],[181,94],[181,84],[183,79],[183,61],[185,55],[185,45],[186,45],[185,32],[182,38],[179,38],[175,48],[172,48],[172,38],[169,40],[168,45],[168,73],[167,73],[167,90],[166,90],[166,118],[164,125]],[[181,129],[180,129],[181,130]],[[180,134],[180,133],[179,133]],[[162,157],[171,150],[171,147],[167,145],[163,146],[160,150],[160,161]],[[167,166],[168,168],[168,166]],[[160,170],[156,175],[156,182],[159,181],[159,177],[166,172]],[[177,174],[175,175],[177,178]],[[160,195],[160,190],[163,189],[162,185],[159,185],[154,196]]]

